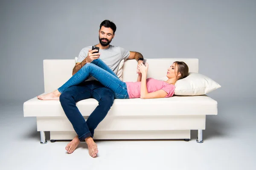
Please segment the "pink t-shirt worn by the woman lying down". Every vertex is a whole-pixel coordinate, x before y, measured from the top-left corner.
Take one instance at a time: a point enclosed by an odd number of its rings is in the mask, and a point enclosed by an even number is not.
[[[125,82],[127,86],[127,92],[129,98],[140,98],[140,85],[141,82]],[[171,97],[174,94],[175,86],[168,84],[167,82],[148,78],[146,79],[146,85],[148,89],[148,93],[152,93],[154,91],[158,91],[163,89],[167,95],[166,97]]]

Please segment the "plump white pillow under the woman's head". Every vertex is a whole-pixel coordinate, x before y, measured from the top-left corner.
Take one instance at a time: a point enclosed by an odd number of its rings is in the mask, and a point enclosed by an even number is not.
[[[175,83],[175,95],[178,96],[198,96],[207,94],[220,88],[217,82],[199,73],[190,72],[189,75]]]

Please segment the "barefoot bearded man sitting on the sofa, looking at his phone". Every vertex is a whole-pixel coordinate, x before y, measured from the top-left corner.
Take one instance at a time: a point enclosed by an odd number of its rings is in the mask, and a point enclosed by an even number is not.
[[[73,68],[73,75],[76,74],[85,64],[92,62],[99,57],[105,62],[115,73],[117,72],[119,63],[122,59],[136,59],[138,64],[143,62],[142,54],[134,51],[127,51],[124,48],[110,45],[115,37],[116,25],[104,20],[99,27],[99,47],[98,50],[91,50],[92,46],[83,48]],[[93,53],[96,52],[96,53]],[[138,71],[137,71],[138,72]],[[99,105],[90,114],[87,121],[84,120],[80,111],[76,107],[76,102],[83,99],[94,98]],[[108,88],[101,85],[94,77],[89,77],[86,81],[77,86],[67,89],[59,97],[61,106],[72,123],[77,136],[66,146],[68,153],[73,153],[81,141],[85,141],[88,145],[89,154],[95,157],[98,153],[97,144],[93,141],[94,129],[105,118],[111,106],[113,105],[114,93]]]

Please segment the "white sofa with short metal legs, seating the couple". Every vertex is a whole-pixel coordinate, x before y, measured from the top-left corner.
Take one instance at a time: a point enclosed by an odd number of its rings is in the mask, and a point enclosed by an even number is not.
[[[175,61],[184,61],[189,72],[198,73],[198,59],[148,59],[148,77],[160,79]],[[44,60],[44,91],[51,92],[71,76],[74,59]],[[126,60],[123,81],[137,81],[137,61]],[[96,108],[96,99],[77,102],[84,119]],[[45,131],[50,132],[51,142],[71,140],[76,133],[67,119],[59,101],[42,101],[32,98],[23,104],[24,116],[37,118],[41,143],[47,143]],[[172,96],[160,99],[114,99],[108,115],[95,130],[94,139],[185,139],[190,130],[198,130],[197,142],[203,142],[206,115],[217,115],[217,102],[207,95]]]

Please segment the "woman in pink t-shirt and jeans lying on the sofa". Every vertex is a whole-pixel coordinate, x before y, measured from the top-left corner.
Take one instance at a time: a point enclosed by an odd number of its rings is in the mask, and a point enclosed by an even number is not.
[[[153,78],[146,79],[148,64],[138,65],[140,74],[137,82],[122,82],[116,74],[101,60],[95,59],[91,63],[84,65],[76,74],[74,74],[64,85],[57,90],[37,96],[41,100],[59,100],[59,96],[70,86],[78,85],[87,77],[93,76],[106,88],[110,88],[115,93],[116,99],[153,99],[171,97],[174,94],[175,82],[178,79],[187,77],[189,68],[185,62],[174,62],[168,68],[168,80],[161,81]]]

